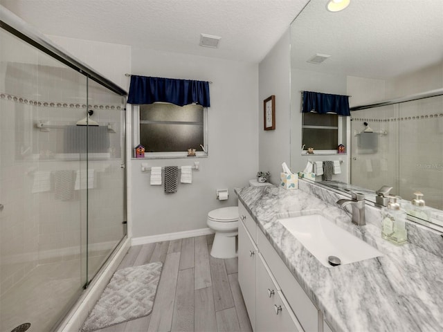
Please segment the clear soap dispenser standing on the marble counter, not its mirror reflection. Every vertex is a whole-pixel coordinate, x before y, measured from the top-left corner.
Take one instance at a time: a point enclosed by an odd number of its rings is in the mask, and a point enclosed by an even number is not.
[[[406,243],[406,212],[397,202],[399,197],[388,196],[386,208],[381,210],[381,237],[397,245]]]

